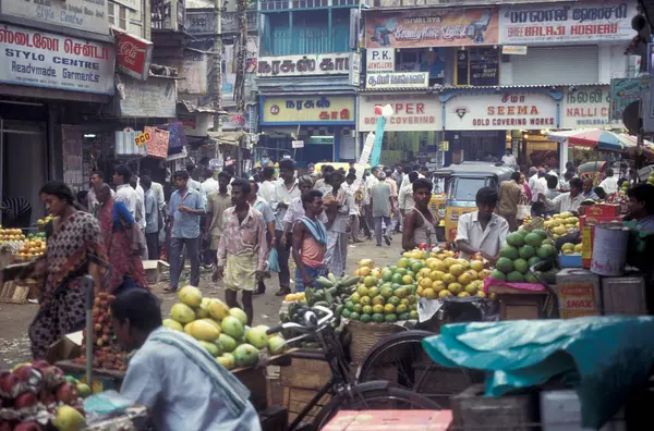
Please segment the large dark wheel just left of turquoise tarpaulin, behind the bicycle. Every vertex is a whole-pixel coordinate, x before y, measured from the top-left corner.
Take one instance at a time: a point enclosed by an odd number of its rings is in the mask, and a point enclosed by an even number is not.
[[[386,380],[424,395],[438,404],[449,406],[449,397],[460,393],[477,379],[472,370],[441,367],[423,349],[422,341],[434,333],[408,331],[377,343],[358,372],[359,382]]]

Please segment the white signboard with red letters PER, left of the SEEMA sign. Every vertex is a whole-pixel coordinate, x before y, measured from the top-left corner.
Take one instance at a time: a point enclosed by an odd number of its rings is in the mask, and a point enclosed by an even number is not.
[[[386,120],[386,132],[421,132],[443,128],[440,101],[435,96],[412,94],[362,94],[359,96],[358,128],[372,132],[377,127],[379,115],[376,106],[390,104],[393,114]]]

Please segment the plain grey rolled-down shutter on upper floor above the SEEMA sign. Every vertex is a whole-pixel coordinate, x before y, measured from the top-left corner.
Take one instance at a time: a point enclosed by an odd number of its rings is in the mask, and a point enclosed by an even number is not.
[[[529,47],[526,56],[509,56],[512,85],[597,83],[600,50],[596,45]]]

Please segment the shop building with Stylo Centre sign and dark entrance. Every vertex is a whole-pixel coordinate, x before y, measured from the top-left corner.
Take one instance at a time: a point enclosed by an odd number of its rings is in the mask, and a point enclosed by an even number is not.
[[[74,8],[90,13],[71,20]],[[84,112],[98,112],[114,94],[108,15],[107,2],[2,1],[0,199],[26,199],[32,223],[45,213],[45,182],[83,182],[84,131],[68,124],[82,123]]]

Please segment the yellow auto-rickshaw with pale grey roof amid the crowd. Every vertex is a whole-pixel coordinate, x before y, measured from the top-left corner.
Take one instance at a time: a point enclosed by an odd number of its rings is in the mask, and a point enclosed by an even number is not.
[[[501,163],[462,162],[439,169],[433,173],[434,194],[432,207],[445,221],[445,241],[457,237],[459,217],[476,210],[475,197],[480,188],[499,188],[502,181],[511,178],[511,168]]]

